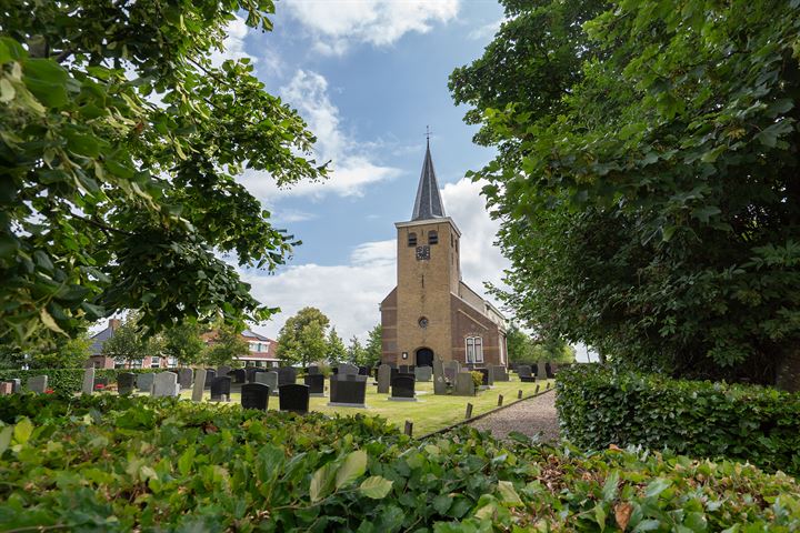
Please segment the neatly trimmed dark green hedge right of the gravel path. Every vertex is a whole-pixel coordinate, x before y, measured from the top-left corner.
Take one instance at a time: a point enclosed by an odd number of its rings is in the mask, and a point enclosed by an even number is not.
[[[642,445],[800,474],[800,394],[597,364],[556,380],[562,435],[581,447]]]

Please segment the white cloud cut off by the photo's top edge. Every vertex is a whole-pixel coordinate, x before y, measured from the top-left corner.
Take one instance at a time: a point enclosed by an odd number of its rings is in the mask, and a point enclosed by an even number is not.
[[[312,34],[314,50],[341,56],[352,43],[377,47],[397,42],[403,34],[426,33],[437,22],[459,12],[460,0],[293,0],[289,12]]]

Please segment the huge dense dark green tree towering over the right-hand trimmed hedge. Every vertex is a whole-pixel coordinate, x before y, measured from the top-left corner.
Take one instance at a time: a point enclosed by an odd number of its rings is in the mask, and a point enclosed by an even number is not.
[[[501,220],[507,303],[619,363],[800,370],[796,7],[504,4],[450,81],[498,147],[471,175]]]

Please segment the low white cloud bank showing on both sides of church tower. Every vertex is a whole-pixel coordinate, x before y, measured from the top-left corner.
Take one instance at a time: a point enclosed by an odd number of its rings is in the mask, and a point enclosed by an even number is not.
[[[482,282],[500,283],[502,270],[509,263],[492,244],[498,222],[489,218],[479,193],[480,184],[467,179],[442,190],[448,215],[462,232],[463,281],[482,293]],[[312,305],[330,318],[343,339],[356,334],[363,340],[380,321],[378,305],[397,283],[396,261],[397,242],[392,239],[356,247],[348,264],[294,265],[276,275],[243,272],[242,278],[252,285],[257,299],[281,308],[280,314],[254,329],[274,339],[289,316]]]

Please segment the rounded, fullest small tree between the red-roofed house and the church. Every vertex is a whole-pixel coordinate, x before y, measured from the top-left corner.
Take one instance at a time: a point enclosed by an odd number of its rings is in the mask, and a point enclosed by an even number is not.
[[[330,320],[317,308],[303,308],[287,319],[278,334],[278,358],[288,364],[308,366],[328,354],[326,330]]]

